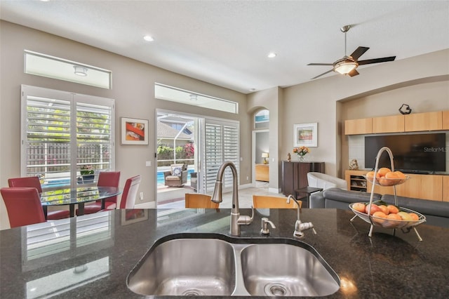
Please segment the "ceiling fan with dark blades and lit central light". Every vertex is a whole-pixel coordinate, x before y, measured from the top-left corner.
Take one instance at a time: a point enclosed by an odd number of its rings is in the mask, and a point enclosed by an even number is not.
[[[339,59],[335,61],[334,63],[309,63],[308,65],[332,65],[332,69],[328,70],[327,72],[323,72],[323,74],[327,74],[328,72],[338,72],[340,74],[347,74],[350,77],[354,77],[358,75],[357,67],[359,65],[370,65],[372,63],[379,63],[379,62],[387,62],[387,61],[393,61],[396,56],[390,56],[390,57],[384,57],[384,58],[375,58],[375,59],[368,59],[368,60],[358,60],[358,58],[363,55],[366,51],[368,51],[368,47],[358,47],[356,48],[356,51],[354,51],[351,55],[346,55],[346,32],[349,31],[349,28],[351,28],[351,25],[346,25],[340,28],[342,32],[344,32],[344,57],[342,59]],[[313,77],[312,79],[316,79],[318,77],[323,76],[323,74],[319,74],[316,77]]]

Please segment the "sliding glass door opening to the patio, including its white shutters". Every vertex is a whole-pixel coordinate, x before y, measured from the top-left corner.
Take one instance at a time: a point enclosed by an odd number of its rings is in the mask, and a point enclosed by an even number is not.
[[[232,161],[239,172],[238,121],[163,110],[157,111],[157,119],[157,206],[181,208],[185,193],[212,194],[224,161]],[[173,164],[187,166],[187,180],[179,185],[166,181]],[[227,169],[223,188],[230,187],[232,172]]]

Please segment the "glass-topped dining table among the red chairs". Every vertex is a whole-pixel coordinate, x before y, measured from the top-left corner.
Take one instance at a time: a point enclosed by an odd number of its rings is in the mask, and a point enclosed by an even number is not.
[[[101,200],[101,209],[105,208],[105,200],[121,194],[118,187],[76,187],[61,188],[41,193],[41,204],[45,218],[48,206],[69,205],[70,217],[75,215],[75,205],[78,205],[78,215],[84,215],[84,204]]]

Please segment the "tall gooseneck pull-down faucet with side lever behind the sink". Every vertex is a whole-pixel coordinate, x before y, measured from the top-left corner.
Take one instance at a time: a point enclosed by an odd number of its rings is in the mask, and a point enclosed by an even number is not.
[[[231,230],[232,236],[240,236],[240,225],[249,225],[254,219],[254,208],[251,207],[251,217],[241,216],[239,213],[239,186],[237,185],[237,168],[231,161],[225,161],[218,169],[217,181],[213,190],[211,201],[220,204],[223,201],[222,197],[222,178],[225,173],[225,168],[231,168],[232,171],[232,210],[231,210]]]

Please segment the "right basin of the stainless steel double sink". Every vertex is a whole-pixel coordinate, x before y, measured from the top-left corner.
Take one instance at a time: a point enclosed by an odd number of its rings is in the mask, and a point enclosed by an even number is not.
[[[241,268],[250,295],[325,296],[340,288],[319,258],[290,244],[249,245]]]

